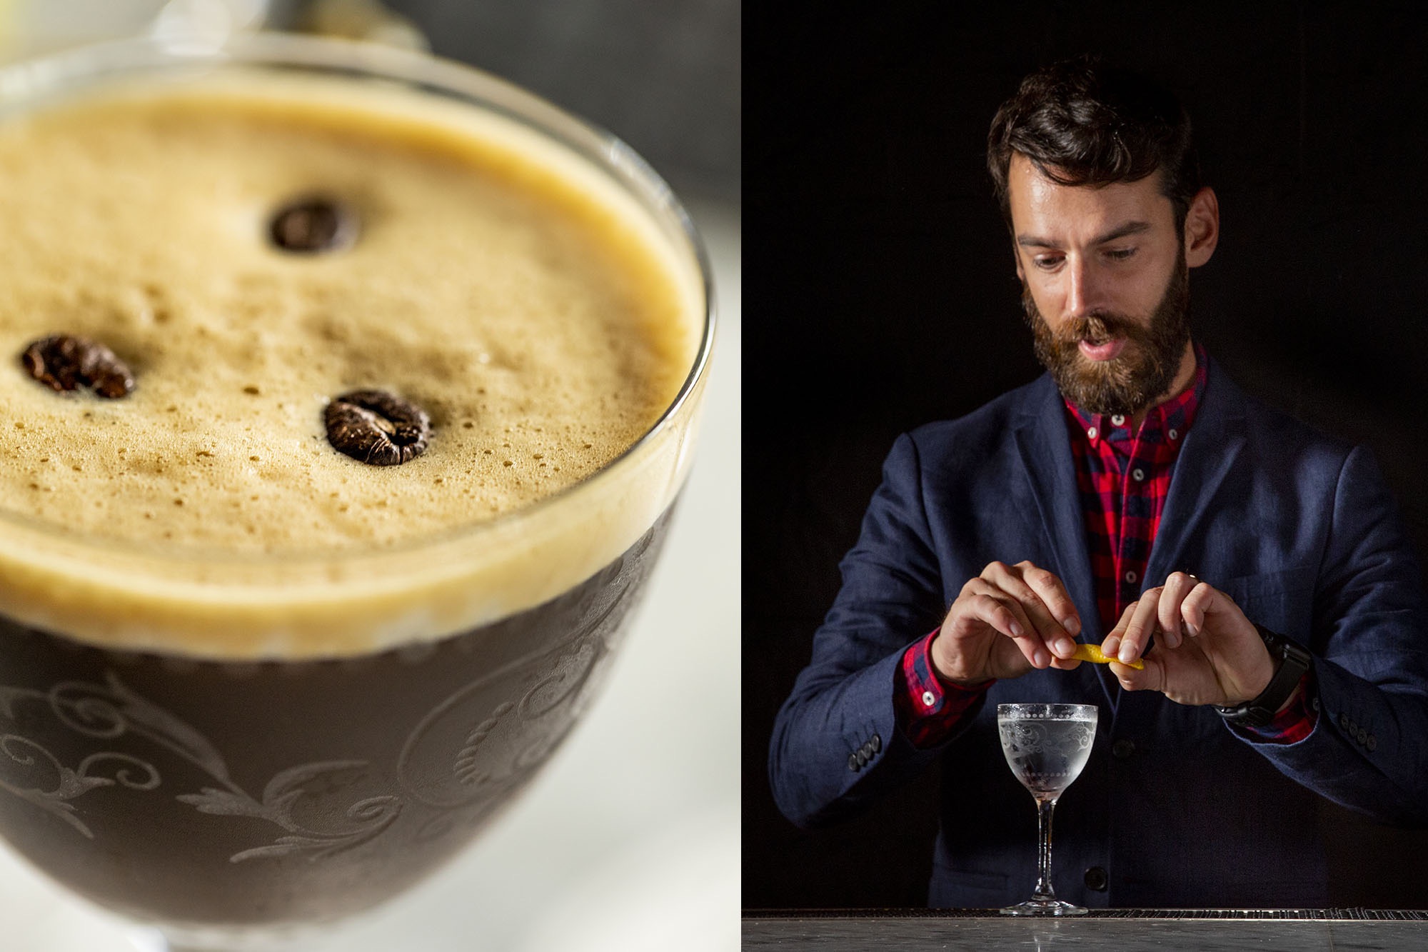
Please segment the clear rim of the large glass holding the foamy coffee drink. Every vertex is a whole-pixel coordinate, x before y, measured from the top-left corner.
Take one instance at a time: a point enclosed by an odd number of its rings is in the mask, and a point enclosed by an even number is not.
[[[583,479],[494,519],[464,523],[384,547],[284,549],[273,553],[224,552],[211,545],[150,545],[137,540],[94,536],[66,529],[26,513],[0,510],[0,523],[21,532],[57,536],[96,553],[141,556],[151,563],[187,563],[198,557],[210,566],[303,566],[356,565],[411,557],[443,546],[464,545],[496,535],[554,506],[581,497],[601,486],[613,473],[633,466],[643,450],[675,426],[685,406],[707,377],[714,346],[714,269],[698,229],[670,184],[633,147],[614,133],[480,67],[424,51],[380,43],[286,33],[240,33],[223,43],[203,43],[156,36],[110,40],[0,66],[0,123],[44,94],[83,89],[104,77],[161,76],[193,67],[307,69],[314,73],[404,83],[417,94],[467,103],[551,140],[607,176],[631,197],[661,237],[678,236],[697,270],[701,300],[698,346],[675,396],[638,439]]]

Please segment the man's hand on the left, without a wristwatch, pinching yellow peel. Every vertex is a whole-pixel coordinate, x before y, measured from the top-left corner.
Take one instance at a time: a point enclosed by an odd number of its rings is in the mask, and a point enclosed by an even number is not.
[[[945,680],[975,685],[1020,678],[1032,668],[1072,669],[1081,616],[1065,586],[1030,562],[992,562],[962,586],[932,639],[932,666]]]

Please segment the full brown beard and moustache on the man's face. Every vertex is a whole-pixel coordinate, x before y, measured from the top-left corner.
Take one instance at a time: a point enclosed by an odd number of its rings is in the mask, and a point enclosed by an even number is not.
[[[1181,356],[1190,343],[1190,269],[1181,256],[1151,313],[1150,326],[1125,314],[1094,312],[1068,320],[1060,332],[1037,310],[1025,283],[1021,306],[1031,326],[1037,360],[1051,373],[1057,389],[1087,413],[1134,416],[1164,396]],[[1091,360],[1080,343],[1125,339],[1125,347],[1110,360]]]

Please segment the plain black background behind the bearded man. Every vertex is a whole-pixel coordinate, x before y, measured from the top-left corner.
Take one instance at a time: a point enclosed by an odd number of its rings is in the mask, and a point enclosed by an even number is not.
[[[894,437],[1041,370],[992,113],[1082,51],[1181,94],[1222,227],[1191,272],[1195,337],[1250,393],[1368,443],[1428,553],[1428,30],[1407,3],[774,7],[744,23],[744,905],[922,905],[935,776],[800,832],[765,765]],[[1428,908],[1428,836],[1324,810],[1335,905]]]

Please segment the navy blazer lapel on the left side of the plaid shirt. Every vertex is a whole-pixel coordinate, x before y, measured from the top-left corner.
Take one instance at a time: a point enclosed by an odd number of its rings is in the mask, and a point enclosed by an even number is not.
[[[1061,395],[1050,376],[1040,380],[1028,399],[1017,425],[1015,440],[1042,535],[1055,560],[1055,565],[1042,567],[1057,573],[1081,613],[1081,635],[1077,640],[1100,645],[1105,632],[1101,630],[1097,612],[1095,577],[1091,575],[1091,556],[1085,546],[1085,515],[1081,512],[1081,493],[1077,489],[1071,437],[1067,433]],[[1114,622],[1115,619],[1107,619],[1108,625]],[[1095,669],[1114,710],[1121,695],[1120,682],[1104,665],[1082,665],[1082,672],[1087,668]]]

